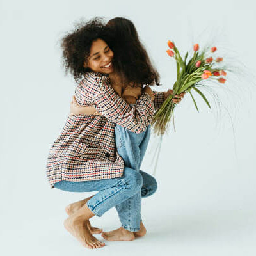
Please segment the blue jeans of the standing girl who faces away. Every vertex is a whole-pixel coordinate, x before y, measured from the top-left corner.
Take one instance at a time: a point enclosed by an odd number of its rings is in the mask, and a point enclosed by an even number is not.
[[[129,231],[140,230],[141,197],[150,196],[157,189],[156,179],[140,170],[150,139],[150,128],[150,125],[148,125],[144,132],[136,134],[120,125],[115,125],[115,141],[118,154],[124,159],[126,167],[136,170],[143,178],[140,193],[136,193],[136,195],[116,205],[122,227]]]

